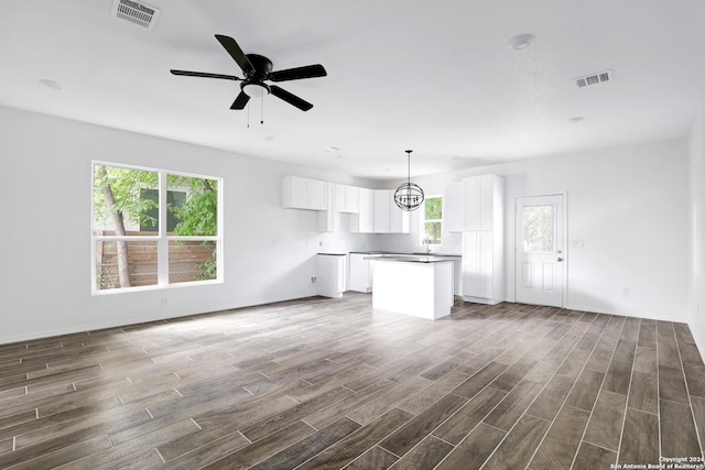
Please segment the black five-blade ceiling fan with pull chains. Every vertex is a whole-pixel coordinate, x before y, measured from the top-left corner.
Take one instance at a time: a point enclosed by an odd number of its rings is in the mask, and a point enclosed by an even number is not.
[[[174,70],[174,75],[184,75],[187,77],[206,77],[220,78],[224,80],[240,81],[240,94],[230,106],[230,109],[245,109],[250,98],[261,98],[264,95],[272,94],[276,98],[295,106],[302,111],[308,111],[313,105],[295,95],[278,87],[276,85],[268,85],[264,81],[288,81],[300,80],[302,78],[325,77],[326,69],[321,64],[305,65],[303,67],[288,68],[285,70],[272,72],[272,61],[259,54],[245,54],[238,43],[229,36],[216,34],[216,40],[225,47],[235,62],[242,69],[245,78],[234,75],[209,74],[205,72]]]

